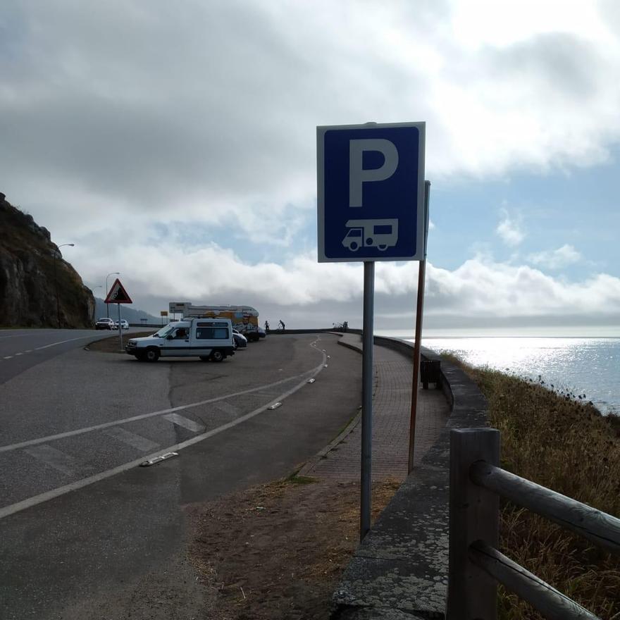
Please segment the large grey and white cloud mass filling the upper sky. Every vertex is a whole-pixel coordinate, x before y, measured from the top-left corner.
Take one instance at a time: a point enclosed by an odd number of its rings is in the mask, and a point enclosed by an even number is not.
[[[9,2],[2,190],[51,228],[80,213],[98,230],[105,204],[232,214],[290,242],[294,224],[271,224],[314,201],[318,124],[426,120],[435,180],[603,161],[620,138],[614,6],[531,6]]]

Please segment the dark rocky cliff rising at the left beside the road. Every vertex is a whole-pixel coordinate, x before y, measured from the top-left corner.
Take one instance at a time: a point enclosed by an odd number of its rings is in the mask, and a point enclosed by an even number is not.
[[[49,230],[0,192],[0,325],[92,327],[94,297]]]

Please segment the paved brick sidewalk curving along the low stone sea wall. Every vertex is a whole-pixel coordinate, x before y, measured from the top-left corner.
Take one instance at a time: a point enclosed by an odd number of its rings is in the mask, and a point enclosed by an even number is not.
[[[358,335],[345,335],[352,348],[361,349]],[[409,417],[411,415],[411,375],[413,364],[403,354],[375,346],[373,349],[373,453],[372,477],[407,478]],[[361,397],[361,395],[360,395]],[[414,466],[435,443],[444,428],[450,409],[440,390],[420,390],[416,420]],[[318,478],[359,480],[361,460],[361,421],[349,435],[302,473]]]

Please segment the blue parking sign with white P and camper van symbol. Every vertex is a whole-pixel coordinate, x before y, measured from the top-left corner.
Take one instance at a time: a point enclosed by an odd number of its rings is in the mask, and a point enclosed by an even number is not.
[[[424,254],[425,123],[316,128],[318,261]]]

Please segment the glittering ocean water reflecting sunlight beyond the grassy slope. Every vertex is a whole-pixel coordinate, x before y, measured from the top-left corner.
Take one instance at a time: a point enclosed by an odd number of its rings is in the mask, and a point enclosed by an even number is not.
[[[422,337],[422,345],[472,366],[541,378],[585,395],[604,414],[620,414],[620,337]]]

